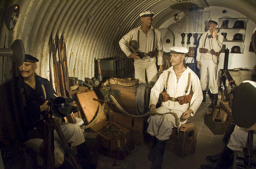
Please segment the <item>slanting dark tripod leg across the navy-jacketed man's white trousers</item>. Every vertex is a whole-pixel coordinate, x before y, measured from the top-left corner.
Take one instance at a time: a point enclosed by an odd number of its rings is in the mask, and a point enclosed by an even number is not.
[[[68,158],[69,158],[69,163],[74,167],[74,168],[77,168],[77,169],[80,169],[82,168],[76,161],[76,158],[75,158],[75,155],[74,153],[71,151],[69,145],[68,145],[68,140],[66,139],[66,137],[64,136],[62,130],[60,129],[60,125],[58,123],[54,123],[54,128],[61,140],[61,144],[64,148],[64,151],[66,152]]]

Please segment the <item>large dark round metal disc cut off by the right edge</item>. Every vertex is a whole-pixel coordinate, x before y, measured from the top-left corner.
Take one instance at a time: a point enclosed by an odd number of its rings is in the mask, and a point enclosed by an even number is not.
[[[249,128],[256,123],[256,82],[241,83],[232,101],[232,117],[236,125]]]

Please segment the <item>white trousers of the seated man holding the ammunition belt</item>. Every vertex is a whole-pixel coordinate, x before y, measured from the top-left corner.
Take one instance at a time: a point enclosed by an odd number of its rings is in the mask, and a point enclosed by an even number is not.
[[[156,109],[158,113],[168,113],[170,109],[163,106]],[[175,112],[172,111],[171,112]],[[175,112],[178,117],[179,113]],[[186,123],[186,122],[185,122]],[[164,114],[163,116],[151,115],[148,117],[148,129],[147,132],[151,136],[158,138],[159,140],[167,140],[172,134],[172,128],[176,127],[175,118],[171,114]]]

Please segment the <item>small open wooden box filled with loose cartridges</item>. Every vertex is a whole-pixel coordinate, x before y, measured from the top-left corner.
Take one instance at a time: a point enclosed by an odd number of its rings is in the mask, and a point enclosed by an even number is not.
[[[94,126],[90,127],[90,132],[99,133],[99,132],[97,132],[97,130],[100,130],[103,127],[108,126],[109,122],[111,122],[111,121],[107,120],[107,121],[95,124]],[[122,147],[126,143],[131,142],[132,132],[130,130],[125,129],[124,127],[120,126],[119,124],[116,124],[114,122],[111,122],[111,123],[114,124],[116,127],[118,127],[121,131],[123,131],[124,135],[122,135],[120,137],[116,137],[112,140],[108,139],[107,137],[103,136],[100,133],[99,133],[99,135],[100,135],[101,145],[103,147],[107,148],[108,150],[113,151],[118,147],[118,144],[120,144],[120,146]]]

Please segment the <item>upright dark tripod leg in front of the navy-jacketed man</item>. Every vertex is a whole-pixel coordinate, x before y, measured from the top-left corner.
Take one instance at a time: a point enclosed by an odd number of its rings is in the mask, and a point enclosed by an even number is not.
[[[44,168],[54,169],[53,119],[44,123]]]

